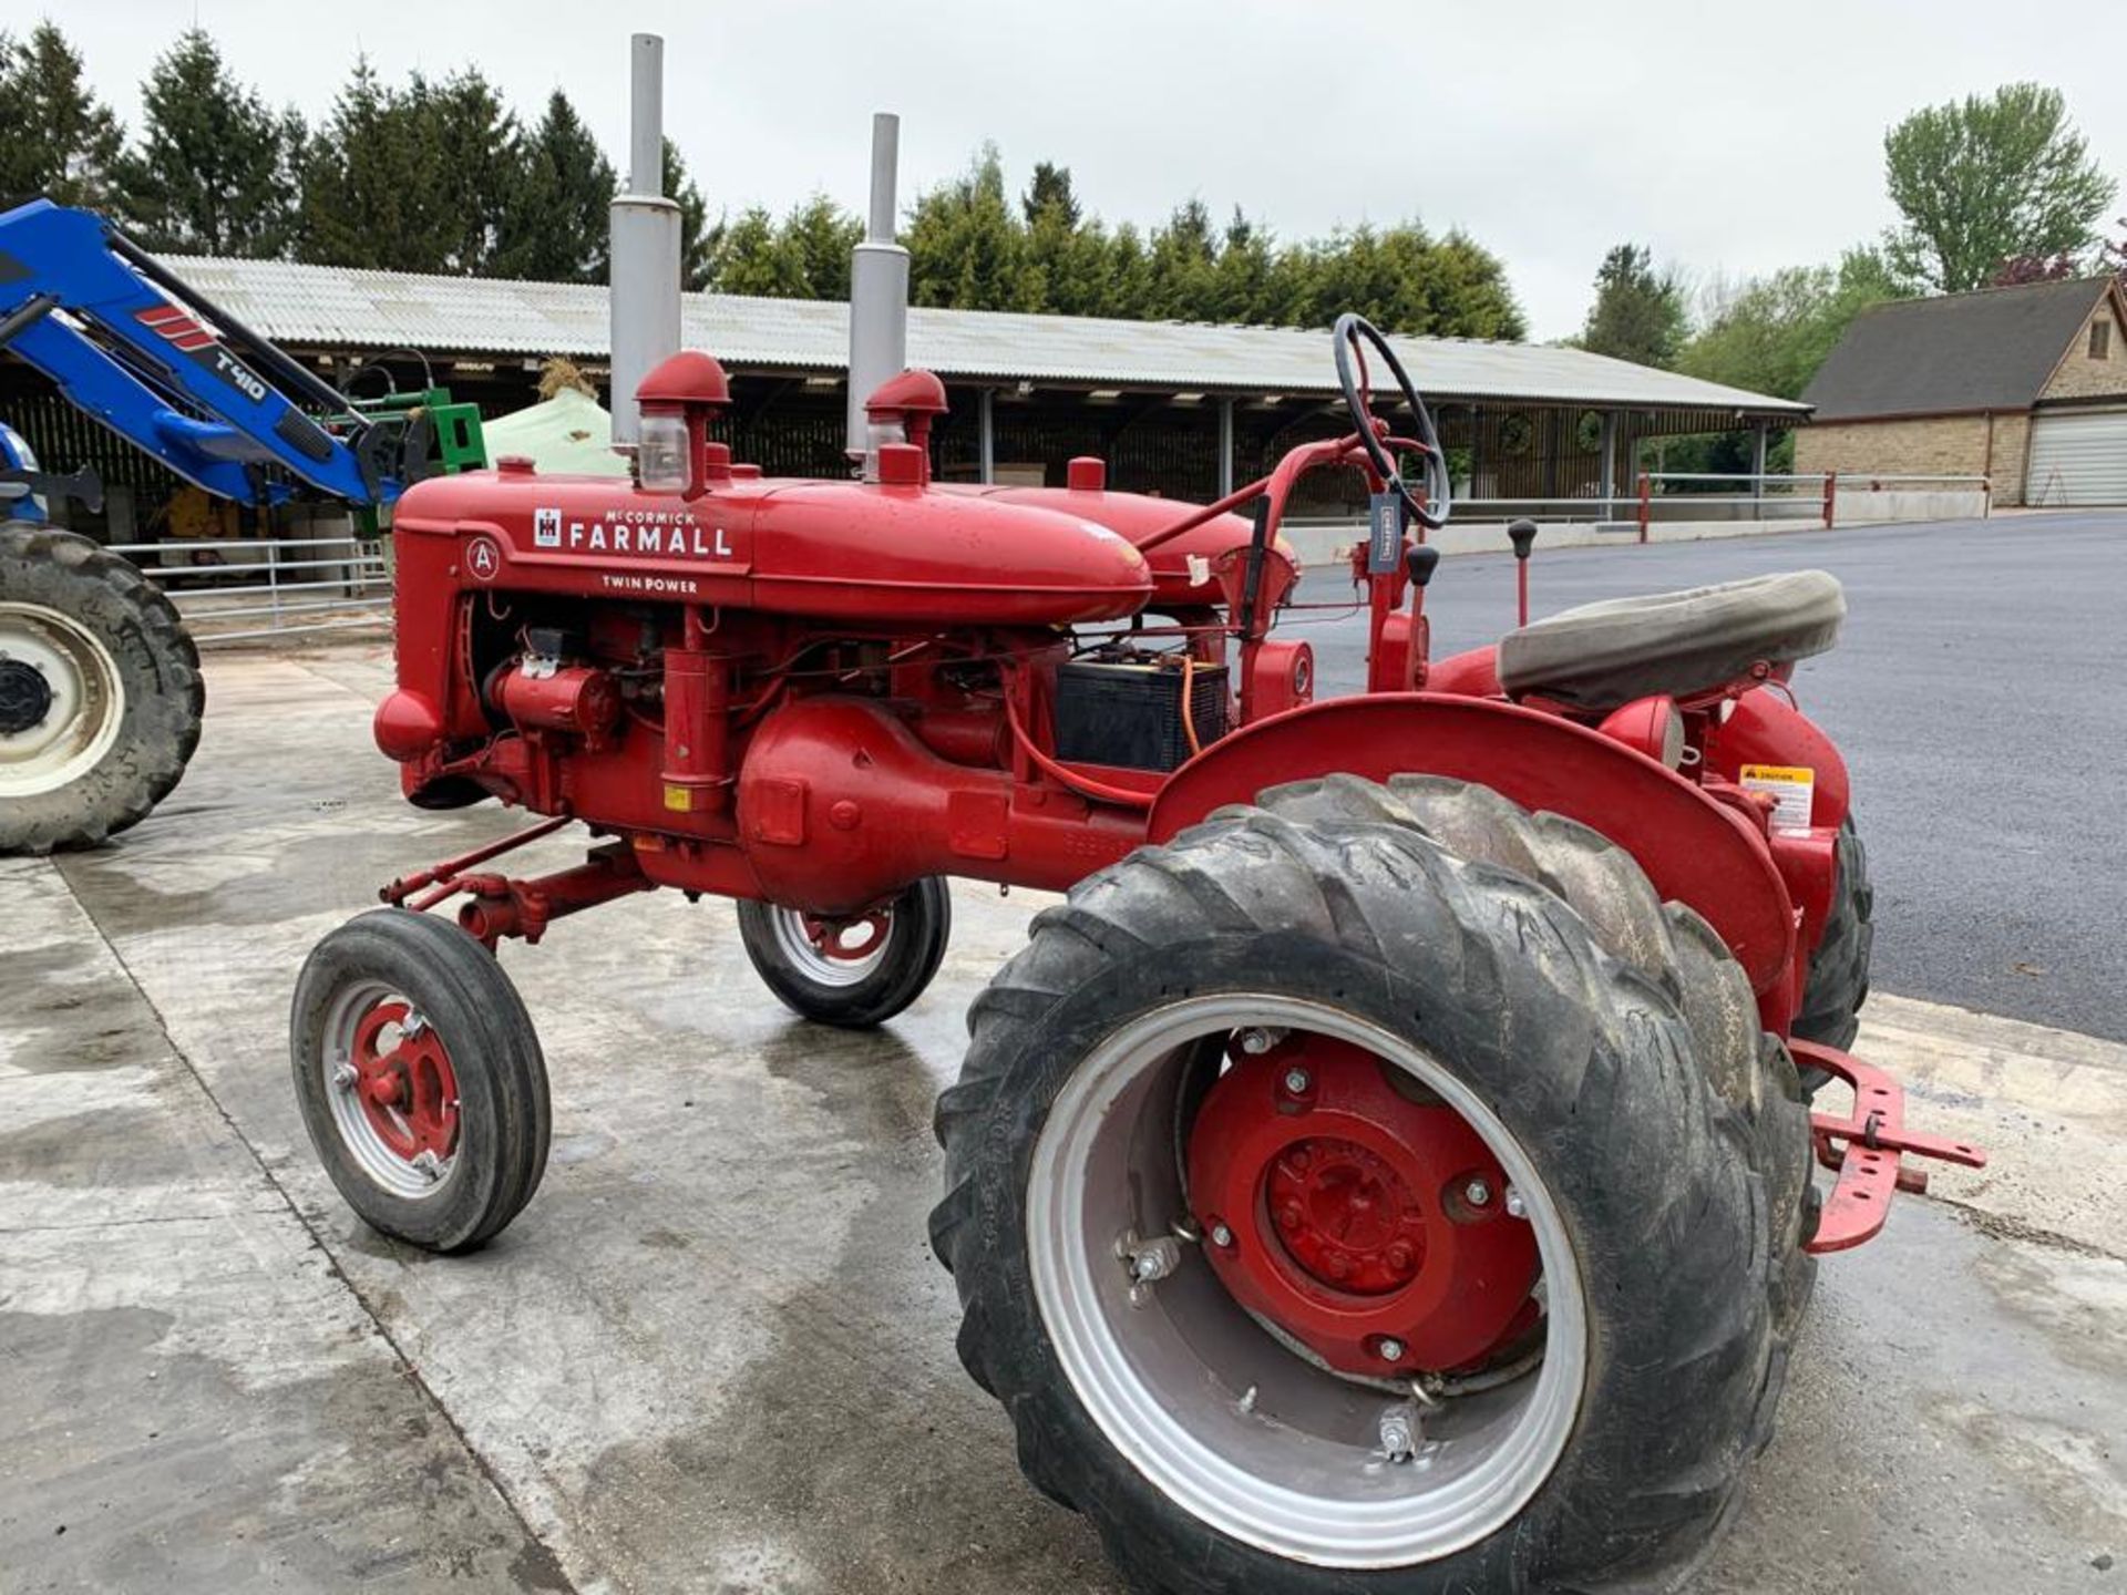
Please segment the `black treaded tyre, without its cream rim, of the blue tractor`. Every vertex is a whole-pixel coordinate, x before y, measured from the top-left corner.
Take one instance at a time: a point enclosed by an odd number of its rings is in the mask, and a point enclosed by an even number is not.
[[[72,532],[0,527],[0,600],[85,627],[123,695],[117,736],[94,768],[51,791],[0,795],[0,853],[96,846],[147,819],[183,778],[206,710],[200,651],[147,576]]]

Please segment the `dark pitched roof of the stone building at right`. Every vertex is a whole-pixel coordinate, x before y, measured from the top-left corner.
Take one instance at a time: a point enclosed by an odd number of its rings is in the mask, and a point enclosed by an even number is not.
[[[1802,393],[1819,421],[2029,410],[2110,276],[1891,300],[1855,317]]]

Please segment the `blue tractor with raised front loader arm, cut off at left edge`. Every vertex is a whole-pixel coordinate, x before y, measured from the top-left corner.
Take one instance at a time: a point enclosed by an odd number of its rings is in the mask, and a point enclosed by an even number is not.
[[[32,200],[0,215],[0,349],[85,415],[215,493],[298,496],[379,530],[421,476],[485,464],[479,415],[442,389],[357,402],[187,289],[108,221]],[[138,568],[51,525],[98,508],[0,425],[0,855],[94,846],[191,759],[206,702],[177,606]]]

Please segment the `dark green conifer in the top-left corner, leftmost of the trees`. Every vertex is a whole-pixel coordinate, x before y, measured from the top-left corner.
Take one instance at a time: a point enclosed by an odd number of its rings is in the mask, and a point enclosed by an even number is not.
[[[28,40],[0,32],[0,202],[38,194],[111,202],[123,130],[81,81],[81,55],[51,21]]]

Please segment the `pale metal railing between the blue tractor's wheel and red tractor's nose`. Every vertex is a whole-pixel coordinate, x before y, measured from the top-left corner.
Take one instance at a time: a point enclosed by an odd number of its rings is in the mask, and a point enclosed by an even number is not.
[[[391,566],[372,538],[117,542],[200,644],[391,625]]]

